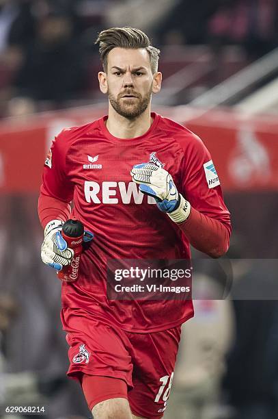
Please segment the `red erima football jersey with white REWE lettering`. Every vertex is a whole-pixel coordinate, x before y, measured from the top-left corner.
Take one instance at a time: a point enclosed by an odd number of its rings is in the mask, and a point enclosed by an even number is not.
[[[203,142],[178,123],[152,113],[150,129],[137,138],[112,136],[107,116],[61,131],[46,159],[41,193],[73,200],[72,215],[93,231],[81,257],[79,278],[62,283],[63,307],[82,307],[126,331],[150,333],[180,325],[193,316],[192,301],[107,299],[107,259],[186,259],[189,240],[178,225],[139,192],[131,180],[135,164],[156,161],[202,214],[230,233],[230,214],[210,154]]]

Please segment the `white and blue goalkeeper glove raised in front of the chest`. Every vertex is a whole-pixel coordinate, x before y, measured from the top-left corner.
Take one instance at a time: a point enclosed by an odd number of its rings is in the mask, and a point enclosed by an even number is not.
[[[139,190],[153,196],[159,210],[166,212],[174,223],[183,223],[191,211],[191,205],[184,199],[173,183],[173,178],[163,168],[152,163],[135,164],[130,172]]]

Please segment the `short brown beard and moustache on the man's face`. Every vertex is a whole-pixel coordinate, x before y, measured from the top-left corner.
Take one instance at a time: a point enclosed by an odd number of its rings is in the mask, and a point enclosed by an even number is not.
[[[125,100],[123,98],[125,94],[133,94],[135,98]],[[140,93],[135,93],[132,89],[127,88],[123,93],[119,93],[117,97],[113,96],[108,89],[108,97],[111,106],[117,114],[124,116],[124,118],[129,120],[133,120],[143,114],[143,112],[147,109],[152,97],[152,86],[150,86],[150,90],[145,94],[145,96],[142,96]]]

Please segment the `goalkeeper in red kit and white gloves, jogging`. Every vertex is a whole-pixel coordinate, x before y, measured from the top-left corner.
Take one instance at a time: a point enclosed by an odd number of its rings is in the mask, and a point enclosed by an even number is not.
[[[61,237],[68,218],[94,231],[94,240],[85,237],[77,281],[61,283],[68,377],[80,383],[94,419],[160,419],[193,303],[108,299],[107,261],[190,259],[190,244],[220,257],[230,213],[203,142],[151,112],[160,51],[135,28],[107,29],[97,42],[108,115],[53,140],[38,205],[42,260],[56,270],[70,264]]]

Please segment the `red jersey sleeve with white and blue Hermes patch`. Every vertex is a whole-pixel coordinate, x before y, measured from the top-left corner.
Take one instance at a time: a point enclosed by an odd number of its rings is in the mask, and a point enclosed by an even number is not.
[[[181,185],[180,192],[195,210],[221,221],[231,231],[217,170],[208,149],[194,134],[184,153]]]

